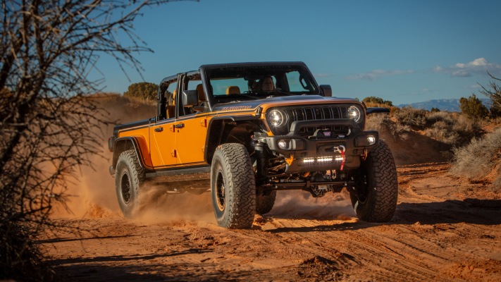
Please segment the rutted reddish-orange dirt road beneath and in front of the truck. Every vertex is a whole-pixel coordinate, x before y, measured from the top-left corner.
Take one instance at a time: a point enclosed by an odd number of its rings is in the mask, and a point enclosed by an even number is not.
[[[208,194],[170,195],[141,219],[97,205],[61,216],[82,231],[42,243],[71,281],[501,281],[501,195],[447,168],[399,166],[385,224],[358,221],[345,194],[294,191],[251,230],[226,230]]]

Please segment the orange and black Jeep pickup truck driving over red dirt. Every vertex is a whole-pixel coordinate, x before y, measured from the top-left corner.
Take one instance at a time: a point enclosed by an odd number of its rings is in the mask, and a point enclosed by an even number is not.
[[[164,78],[155,117],[116,125],[109,138],[118,203],[134,216],[146,186],[211,192],[219,226],[250,228],[278,190],[350,192],[359,219],[385,222],[397,172],[366,108],[332,97],[302,62],[225,63]],[[151,185],[145,185],[151,183]]]

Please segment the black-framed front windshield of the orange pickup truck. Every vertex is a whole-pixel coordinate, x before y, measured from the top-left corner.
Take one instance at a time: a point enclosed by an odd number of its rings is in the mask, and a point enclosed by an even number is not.
[[[216,99],[264,99],[318,94],[316,83],[302,66],[237,66],[207,70]]]

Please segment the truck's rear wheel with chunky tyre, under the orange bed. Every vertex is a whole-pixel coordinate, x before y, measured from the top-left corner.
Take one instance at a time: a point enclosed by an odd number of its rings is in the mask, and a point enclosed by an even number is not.
[[[135,150],[124,151],[116,163],[115,188],[118,205],[125,217],[135,216],[140,207],[139,194],[144,182],[144,170]]]

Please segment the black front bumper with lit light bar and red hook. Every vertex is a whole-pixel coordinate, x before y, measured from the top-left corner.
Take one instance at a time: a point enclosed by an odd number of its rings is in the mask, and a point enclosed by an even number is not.
[[[347,126],[350,133],[338,135],[331,126]],[[318,128],[313,136],[299,135],[302,128]],[[264,136],[259,141],[287,163],[285,172],[344,170],[359,168],[361,157],[378,144],[377,131],[362,131],[350,119],[295,121],[287,135]]]

